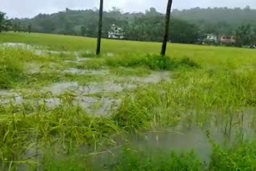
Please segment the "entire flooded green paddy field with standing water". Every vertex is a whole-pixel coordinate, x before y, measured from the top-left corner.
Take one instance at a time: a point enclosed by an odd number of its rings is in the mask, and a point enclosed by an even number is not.
[[[254,170],[256,54],[204,48],[0,44],[0,170]]]

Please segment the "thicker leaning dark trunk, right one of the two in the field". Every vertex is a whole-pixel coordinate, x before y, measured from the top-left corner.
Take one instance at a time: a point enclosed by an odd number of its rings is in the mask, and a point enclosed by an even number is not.
[[[162,50],[161,50],[162,56],[166,55],[166,46],[169,38],[170,10],[171,10],[172,4],[173,4],[173,0],[168,0],[167,9],[166,9],[166,27],[165,27],[165,34],[163,37]]]

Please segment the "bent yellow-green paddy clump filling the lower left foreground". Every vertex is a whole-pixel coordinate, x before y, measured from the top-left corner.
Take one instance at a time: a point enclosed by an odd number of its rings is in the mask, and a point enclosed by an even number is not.
[[[12,109],[7,106],[0,113],[0,161],[5,165],[37,161],[44,149],[53,146],[65,153],[80,145],[97,150],[98,146],[114,143],[111,136],[122,132],[114,121],[91,117],[67,103],[51,110],[43,103],[26,114],[25,108]]]

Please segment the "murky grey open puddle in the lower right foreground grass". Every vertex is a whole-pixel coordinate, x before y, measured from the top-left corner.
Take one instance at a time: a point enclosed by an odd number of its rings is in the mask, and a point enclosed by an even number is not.
[[[219,138],[219,137],[216,137]],[[209,162],[212,147],[206,131],[197,127],[148,132],[143,137],[131,136],[130,145],[150,153],[151,150],[162,152],[190,152],[194,150],[203,161]]]

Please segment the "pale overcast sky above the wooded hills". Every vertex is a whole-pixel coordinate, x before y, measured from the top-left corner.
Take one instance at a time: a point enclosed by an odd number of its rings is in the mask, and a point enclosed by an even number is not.
[[[0,11],[7,13],[10,18],[31,18],[35,15],[51,14],[60,10],[92,9],[98,7],[99,0],[0,0]],[[144,12],[151,6],[158,11],[166,10],[167,0],[104,0],[104,10],[112,6],[121,8],[124,12]],[[256,8],[256,0],[174,0],[173,8],[188,9],[192,7],[245,7]]]

